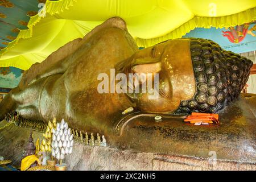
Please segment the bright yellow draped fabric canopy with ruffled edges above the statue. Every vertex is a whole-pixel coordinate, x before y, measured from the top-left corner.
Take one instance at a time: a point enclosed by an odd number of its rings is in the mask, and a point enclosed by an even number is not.
[[[28,69],[108,18],[127,23],[138,46],[181,38],[196,27],[230,27],[256,20],[255,0],[60,0],[46,2],[46,16],[32,16],[27,30],[0,51],[0,67]]]

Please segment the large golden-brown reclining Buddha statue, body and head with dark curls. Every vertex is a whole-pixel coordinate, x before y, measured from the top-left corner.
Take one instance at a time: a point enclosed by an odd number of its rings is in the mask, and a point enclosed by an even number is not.
[[[240,95],[252,65],[206,39],[167,40],[139,50],[126,23],[110,18],[83,39],[32,65],[1,102],[0,121],[15,110],[23,118],[45,122],[64,118],[74,129],[108,135],[129,107],[151,114],[218,113]],[[158,73],[159,97],[99,93],[98,75],[110,75],[110,69],[125,75]]]

